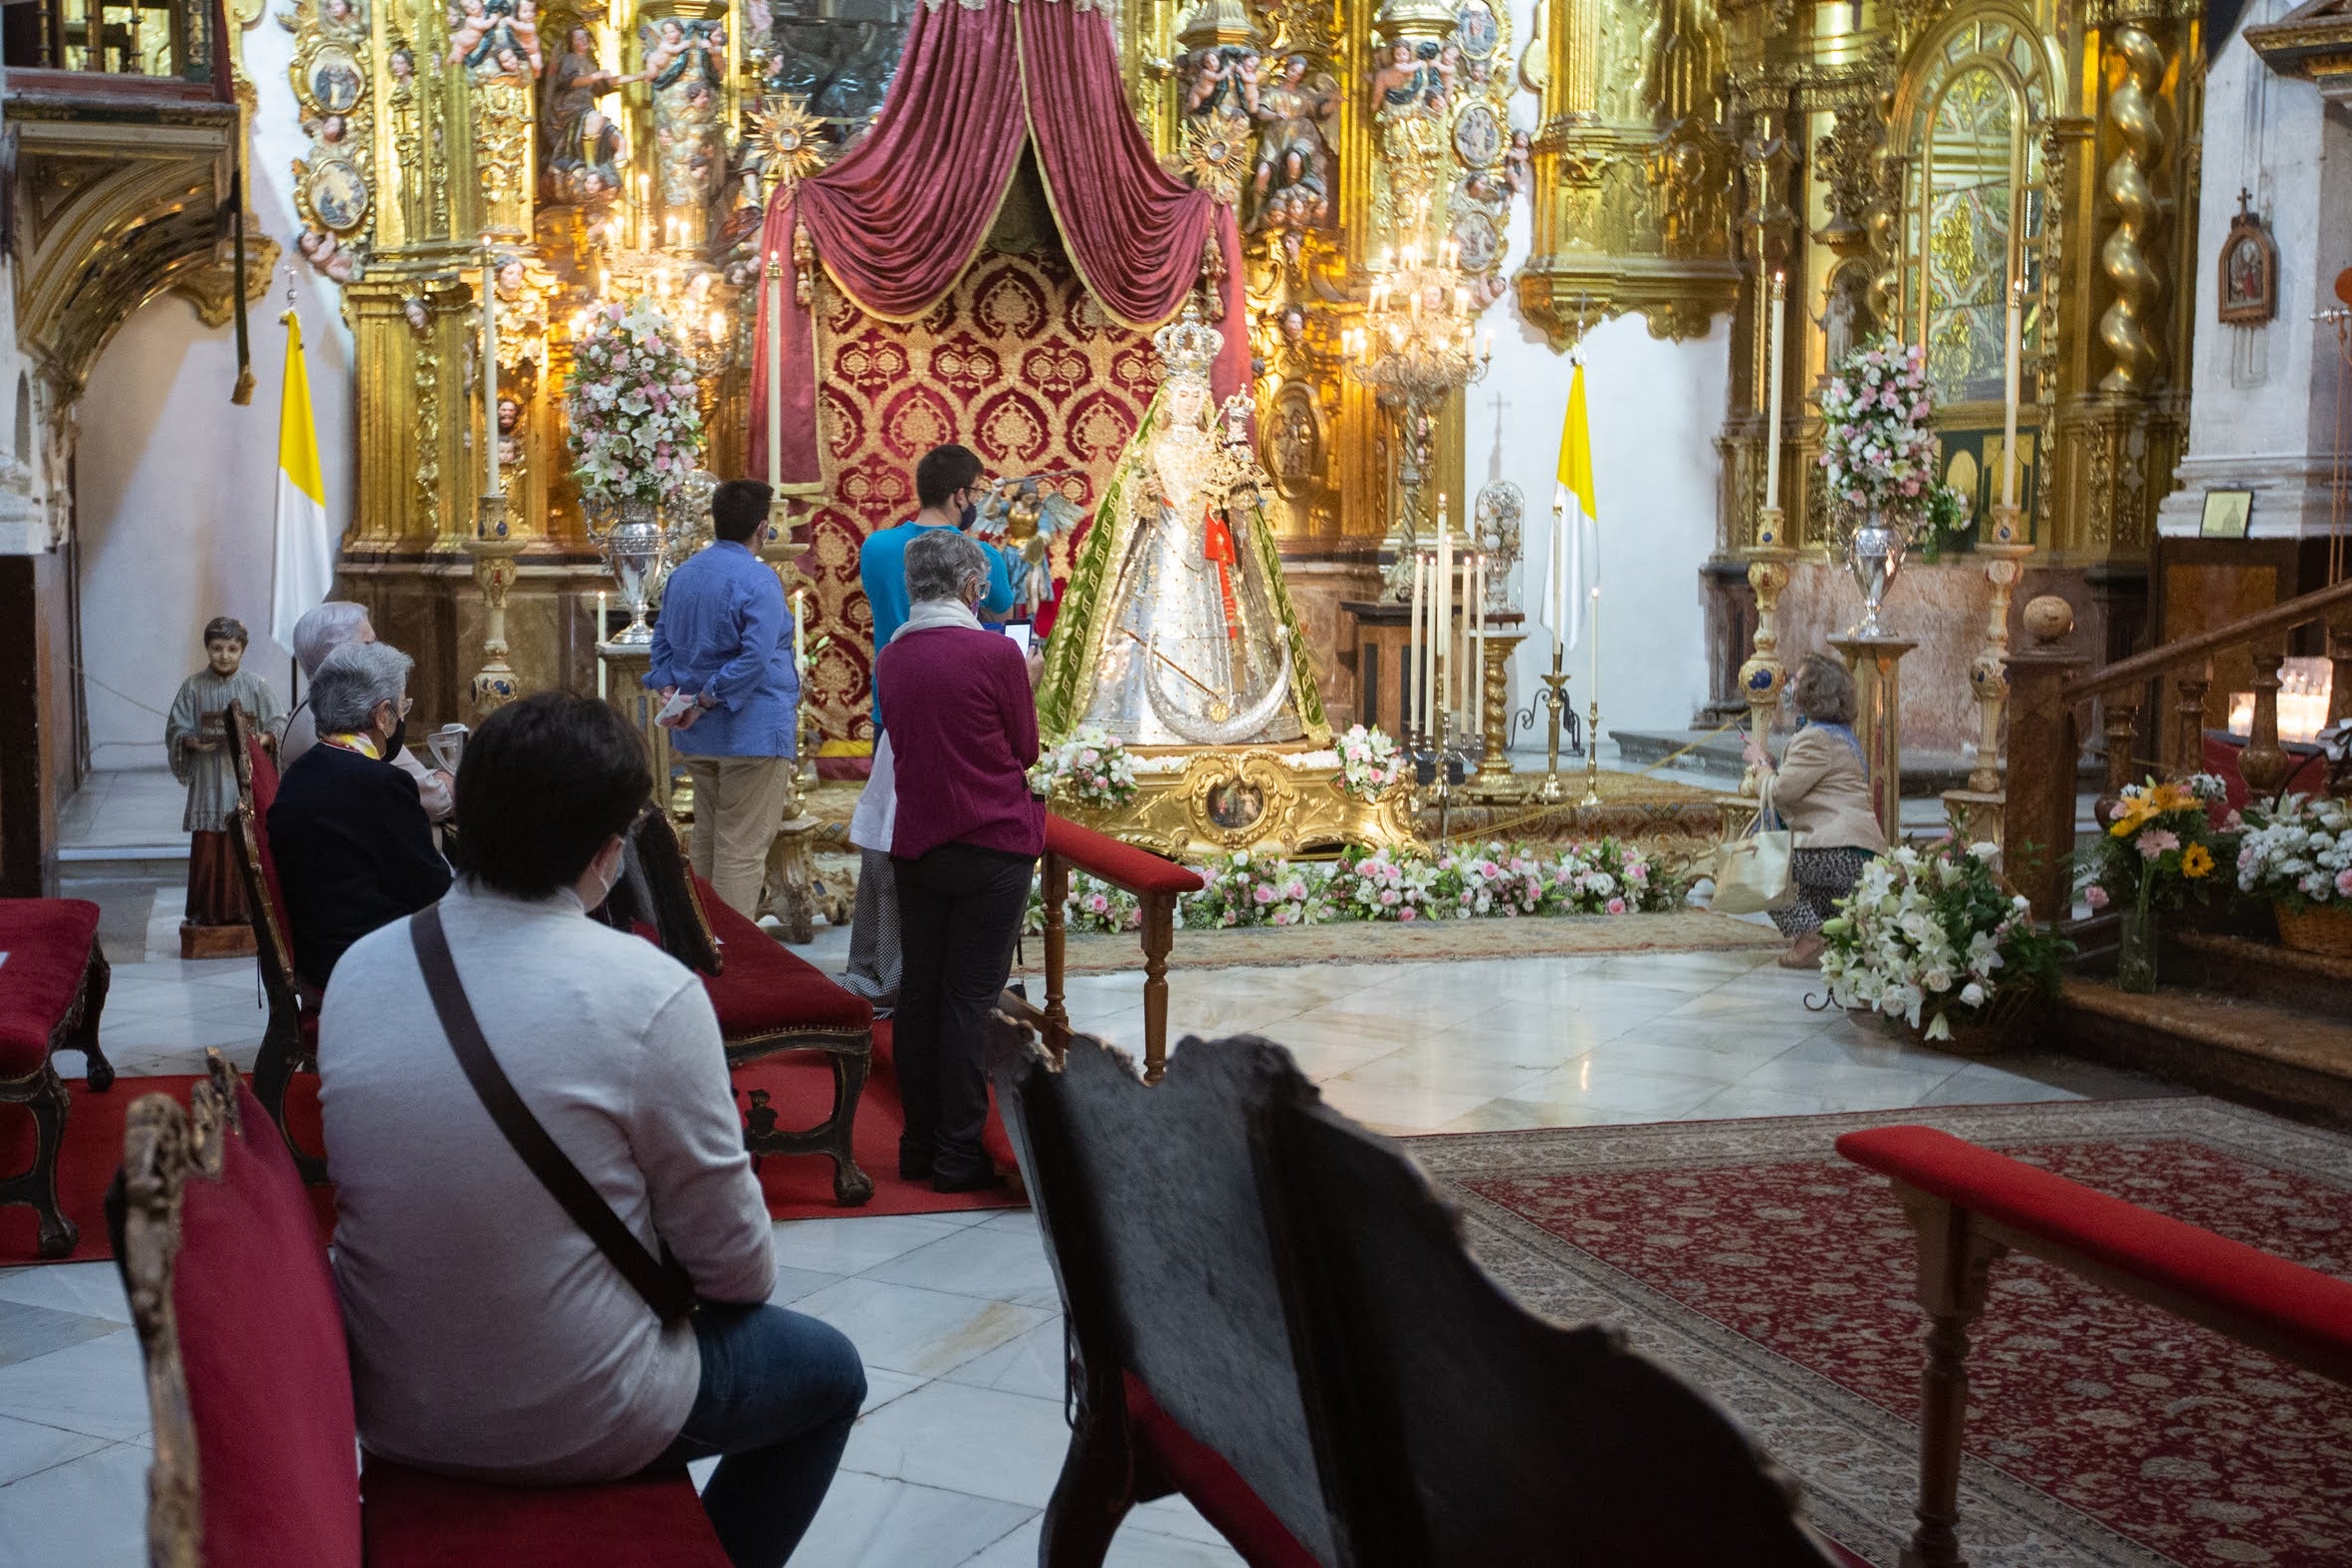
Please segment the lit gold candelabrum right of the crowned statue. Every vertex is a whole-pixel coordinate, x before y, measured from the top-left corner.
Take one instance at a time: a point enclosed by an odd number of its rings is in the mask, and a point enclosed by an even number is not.
[[[1399,508],[1381,550],[1390,567],[1381,597],[1397,602],[1414,588],[1421,543],[1421,494],[1435,473],[1437,416],[1446,397],[1486,376],[1494,334],[1477,339],[1477,303],[1461,270],[1456,240],[1428,240],[1430,212],[1421,205],[1416,237],[1390,263],[1369,268],[1364,324],[1341,339],[1350,374],[1397,425]]]

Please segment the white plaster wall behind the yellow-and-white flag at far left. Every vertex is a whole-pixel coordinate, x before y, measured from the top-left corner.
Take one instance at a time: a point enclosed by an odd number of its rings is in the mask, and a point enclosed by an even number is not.
[[[254,120],[252,212],[278,240],[278,275],[252,306],[254,400],[228,402],[235,327],[207,329],[181,299],[158,299],[108,343],[80,402],[75,456],[82,550],[82,661],[89,755],[99,769],[162,766],[162,719],[205,656],[212,616],[254,632],[249,668],[287,696],[292,654],[268,637],[278,393],[294,280],[327,484],[327,522],[350,517],[350,334],[339,289],[294,249],[289,162],[306,141],[287,61],[294,38],[266,19],[245,35],[261,103]],[[294,259],[289,270],[287,256]]]

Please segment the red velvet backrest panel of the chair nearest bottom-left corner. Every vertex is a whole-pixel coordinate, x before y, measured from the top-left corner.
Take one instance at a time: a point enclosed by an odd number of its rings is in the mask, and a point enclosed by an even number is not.
[[[221,1180],[188,1180],[172,1305],[202,1465],[205,1561],[358,1568],[343,1314],[310,1199],[268,1112],[238,1088]]]

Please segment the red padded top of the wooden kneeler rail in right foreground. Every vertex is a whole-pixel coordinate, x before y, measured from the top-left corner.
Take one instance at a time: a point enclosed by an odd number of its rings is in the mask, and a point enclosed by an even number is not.
[[[1919,1192],[2190,1300],[2303,1340],[2352,1347],[2352,1281],[2147,1213],[2119,1197],[1936,1128],[1879,1126],[1846,1133],[1837,1140],[1837,1152]]]

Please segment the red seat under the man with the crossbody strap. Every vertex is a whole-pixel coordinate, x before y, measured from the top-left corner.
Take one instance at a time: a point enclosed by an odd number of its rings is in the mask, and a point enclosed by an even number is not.
[[[360,1486],[367,1568],[727,1568],[684,1469],[609,1486],[489,1486],[367,1455]]]

